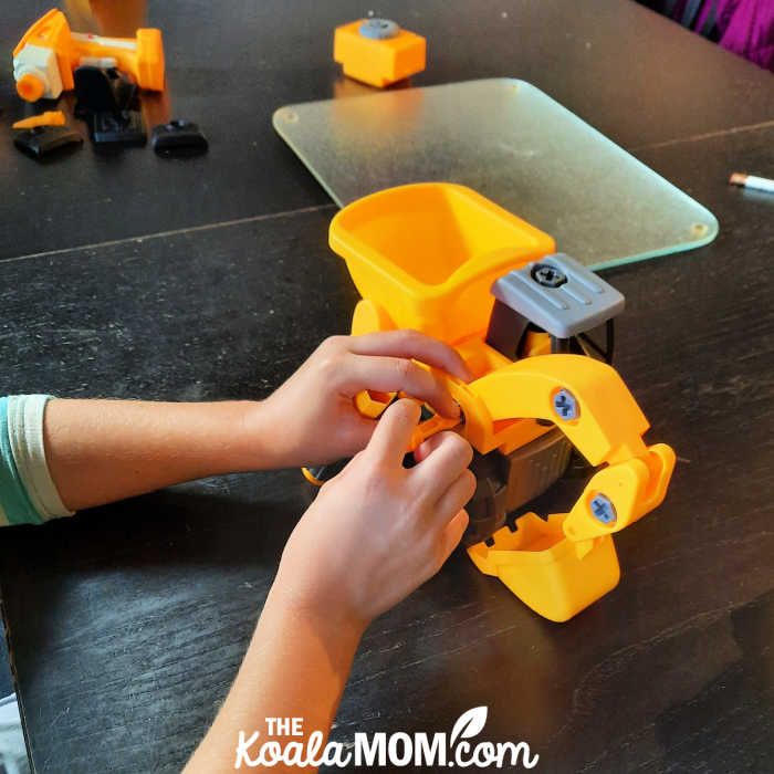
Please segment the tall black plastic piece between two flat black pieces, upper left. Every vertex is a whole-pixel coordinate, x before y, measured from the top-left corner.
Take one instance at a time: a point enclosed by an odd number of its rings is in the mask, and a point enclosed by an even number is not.
[[[137,102],[137,86],[115,69],[82,65],[74,73],[75,115],[88,125],[92,142],[145,145],[145,123]]]

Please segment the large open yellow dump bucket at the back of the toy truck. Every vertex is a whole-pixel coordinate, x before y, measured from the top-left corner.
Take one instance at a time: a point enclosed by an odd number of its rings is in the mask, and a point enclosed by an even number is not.
[[[554,240],[449,182],[399,186],[338,212],[330,243],[390,326],[453,344],[487,328],[492,283],[554,252]]]

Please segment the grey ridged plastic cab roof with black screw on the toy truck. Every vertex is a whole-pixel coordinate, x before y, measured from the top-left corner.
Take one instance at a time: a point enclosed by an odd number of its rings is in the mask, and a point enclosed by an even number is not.
[[[546,255],[492,285],[498,301],[557,338],[569,338],[624,311],[624,296],[569,255]]]

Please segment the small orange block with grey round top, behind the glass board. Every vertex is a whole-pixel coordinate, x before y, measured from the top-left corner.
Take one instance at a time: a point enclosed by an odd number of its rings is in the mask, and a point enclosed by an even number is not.
[[[425,70],[427,42],[387,19],[358,19],[337,27],[333,59],[344,74],[383,88]]]

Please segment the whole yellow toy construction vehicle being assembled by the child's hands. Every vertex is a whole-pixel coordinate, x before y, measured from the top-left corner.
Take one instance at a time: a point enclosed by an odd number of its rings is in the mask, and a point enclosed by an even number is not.
[[[674,467],[669,446],[644,443],[648,422],[609,365],[624,296],[555,253],[547,234],[451,184],[359,199],[335,216],[330,241],[363,296],[353,334],[416,328],[453,346],[474,374],[464,384],[436,372],[462,419],[425,406],[409,451],[451,427],[475,450],[464,538],[475,566],[555,621],[614,588],[613,533],[661,503]],[[588,335],[599,326],[605,348]],[[394,397],[362,393],[356,406],[378,417]],[[572,446],[600,468],[569,513],[525,513],[508,526],[509,513],[563,475]]]

